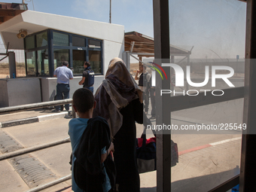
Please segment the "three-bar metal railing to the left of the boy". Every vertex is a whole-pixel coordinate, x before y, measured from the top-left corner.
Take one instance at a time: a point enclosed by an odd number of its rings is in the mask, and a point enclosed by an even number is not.
[[[40,102],[40,103],[33,103],[33,104],[28,104],[28,105],[17,105],[17,106],[13,106],[13,107],[0,108],[0,114],[17,113],[20,111],[27,111],[27,110],[37,109],[37,108],[44,108],[44,107],[52,107],[55,105],[64,105],[64,104],[68,104],[68,103],[72,103],[72,99],[63,99],[63,100],[58,100],[58,101],[53,101],[53,102]],[[76,117],[75,111],[73,109],[72,109],[72,117],[73,118]],[[0,155],[0,161],[9,159],[11,157],[17,157],[22,154],[28,154],[33,151],[42,150],[44,148],[50,148],[50,147],[53,147],[56,145],[61,145],[61,144],[67,143],[67,142],[70,142],[69,138],[62,139],[62,140],[59,140],[56,142],[50,142],[50,143],[43,144],[43,145],[32,146],[30,148],[20,149],[17,151],[10,152],[8,154],[2,154],[2,155]],[[59,178],[56,181],[52,181],[52,182],[43,184],[38,187],[34,187],[30,190],[27,190],[26,192],[37,192],[40,190],[44,190],[48,187],[52,187],[53,185],[62,183],[63,181],[67,181],[71,178],[72,178],[71,174],[66,175],[65,177]]]

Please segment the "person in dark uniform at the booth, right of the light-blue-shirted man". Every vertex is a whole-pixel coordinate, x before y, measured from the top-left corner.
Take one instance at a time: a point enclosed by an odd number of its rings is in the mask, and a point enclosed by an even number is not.
[[[93,93],[94,72],[93,69],[90,68],[90,62],[84,62],[83,78],[78,84],[83,84],[84,88],[87,88]]]

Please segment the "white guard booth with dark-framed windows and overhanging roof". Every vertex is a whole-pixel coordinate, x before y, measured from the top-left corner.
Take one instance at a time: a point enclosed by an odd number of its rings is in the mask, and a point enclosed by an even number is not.
[[[0,107],[53,100],[53,72],[64,60],[74,74],[70,98],[81,87],[84,61],[96,73],[95,92],[109,61],[122,58],[124,51],[124,26],[37,11],[24,11],[2,23],[0,34],[8,49],[24,50],[26,60],[26,78],[0,79]]]

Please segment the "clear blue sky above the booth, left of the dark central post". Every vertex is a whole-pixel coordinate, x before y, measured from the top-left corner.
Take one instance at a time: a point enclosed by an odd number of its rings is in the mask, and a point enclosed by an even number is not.
[[[22,0],[2,0],[22,3]],[[33,11],[32,0],[26,1]],[[33,0],[35,11],[109,23],[109,0]],[[111,0],[111,23],[153,38],[152,0]]]

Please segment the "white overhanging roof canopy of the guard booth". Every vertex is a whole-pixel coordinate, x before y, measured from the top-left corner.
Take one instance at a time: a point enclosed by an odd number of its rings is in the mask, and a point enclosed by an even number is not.
[[[24,49],[23,38],[17,38],[20,29],[26,29],[28,35],[45,29],[56,29],[114,42],[123,41],[124,33],[124,26],[116,24],[46,14],[38,11],[24,11],[0,25],[0,34],[5,45],[9,42],[9,49]]]

